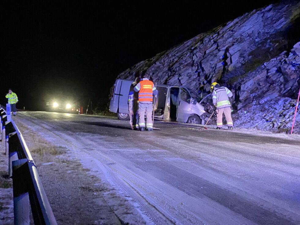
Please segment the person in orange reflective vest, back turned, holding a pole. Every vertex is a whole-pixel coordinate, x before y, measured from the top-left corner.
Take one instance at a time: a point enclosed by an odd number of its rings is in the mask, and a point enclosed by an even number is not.
[[[139,92],[139,126],[140,130],[144,131],[147,127],[148,131],[152,131],[152,100],[153,95],[157,95],[158,91],[154,87],[152,81],[149,81],[150,74],[146,73],[143,77],[143,80],[140,81],[135,87],[134,91]],[[145,112],[147,118],[147,124],[145,124]]]

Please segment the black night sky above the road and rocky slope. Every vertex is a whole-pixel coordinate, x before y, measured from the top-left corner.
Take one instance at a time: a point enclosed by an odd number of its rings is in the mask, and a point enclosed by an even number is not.
[[[135,63],[279,1],[1,1],[0,103],[40,110],[54,96],[105,106]]]

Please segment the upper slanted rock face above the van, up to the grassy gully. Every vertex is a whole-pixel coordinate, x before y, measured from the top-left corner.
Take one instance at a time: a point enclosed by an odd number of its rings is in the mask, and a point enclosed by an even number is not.
[[[244,65],[257,45],[284,30],[299,15],[300,4],[270,5],[238,17],[225,25],[202,33],[168,51],[142,61],[119,74],[134,79],[147,70],[159,84],[182,84],[209,91],[223,70]]]

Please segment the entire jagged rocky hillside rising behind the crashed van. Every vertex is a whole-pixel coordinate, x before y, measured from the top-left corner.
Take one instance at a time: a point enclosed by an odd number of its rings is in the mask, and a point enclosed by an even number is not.
[[[300,2],[270,5],[139,62],[118,78],[133,80],[147,71],[154,82],[185,85],[204,96],[217,81],[234,92],[236,126],[288,131],[300,84],[299,38]]]

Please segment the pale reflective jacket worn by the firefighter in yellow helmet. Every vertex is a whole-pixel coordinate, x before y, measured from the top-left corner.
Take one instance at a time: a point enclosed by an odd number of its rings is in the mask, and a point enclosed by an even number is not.
[[[226,87],[215,88],[212,92],[212,102],[217,109],[231,106],[228,97],[232,97],[232,92]]]

